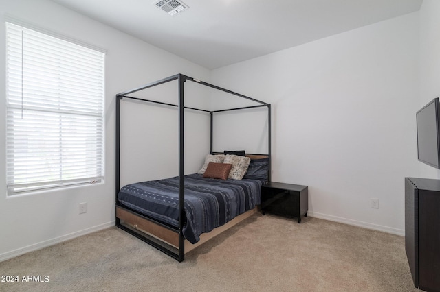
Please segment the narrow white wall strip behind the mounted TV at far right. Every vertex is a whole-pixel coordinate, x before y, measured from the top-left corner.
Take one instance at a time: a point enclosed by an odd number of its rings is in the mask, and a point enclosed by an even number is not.
[[[420,11],[420,104],[440,97],[440,1],[424,0]],[[440,171],[419,163],[421,178],[440,178]]]

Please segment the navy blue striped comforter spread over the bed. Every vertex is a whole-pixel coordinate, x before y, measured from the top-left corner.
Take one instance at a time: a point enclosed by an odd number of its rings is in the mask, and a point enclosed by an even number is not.
[[[262,180],[218,180],[185,176],[184,236],[197,243],[200,234],[222,226],[261,202]],[[121,188],[119,202],[171,226],[179,226],[179,178],[138,182]]]

